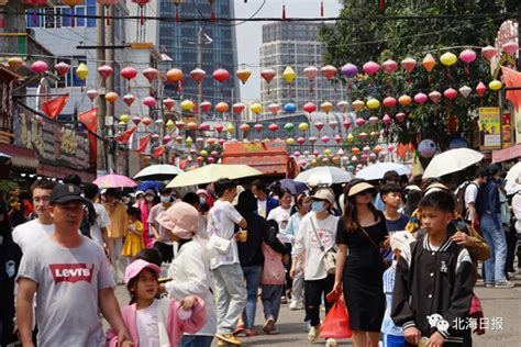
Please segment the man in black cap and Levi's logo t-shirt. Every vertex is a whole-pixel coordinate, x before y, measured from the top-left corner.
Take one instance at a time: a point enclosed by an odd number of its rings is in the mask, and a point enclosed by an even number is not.
[[[122,344],[130,340],[103,250],[78,233],[86,202],[78,187],[56,186],[49,197],[54,231],[24,251],[16,277],[16,318],[23,346],[34,346],[35,293],[40,346],[106,346],[99,312]]]

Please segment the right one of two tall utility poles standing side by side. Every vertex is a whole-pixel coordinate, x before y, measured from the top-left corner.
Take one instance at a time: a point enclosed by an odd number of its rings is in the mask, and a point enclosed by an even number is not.
[[[111,18],[114,18],[115,14],[115,9],[113,5],[110,7],[109,10],[109,15]],[[107,89],[109,91],[114,91],[114,75],[115,75],[115,49],[114,49],[114,41],[115,41],[115,25],[117,23],[113,23],[110,25],[109,29],[109,37],[107,41],[108,45],[108,51],[107,51],[107,61],[109,66],[112,68],[114,74],[110,76],[107,80]],[[118,144],[115,143],[114,139],[114,103],[109,102],[107,104],[107,119],[106,119],[106,125],[107,125],[107,137],[109,139],[109,170],[113,171],[117,174],[118,171],[118,165],[117,165],[117,150],[118,150]]]

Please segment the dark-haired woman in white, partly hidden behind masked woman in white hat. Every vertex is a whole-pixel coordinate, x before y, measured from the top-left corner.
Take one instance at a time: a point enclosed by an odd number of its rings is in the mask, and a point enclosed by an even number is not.
[[[311,198],[306,193],[297,195],[296,205],[297,213],[293,213],[289,217],[288,227],[286,227],[285,238],[291,244],[291,248],[295,247],[295,238],[297,237],[300,228],[302,219],[311,210]],[[295,275],[292,288],[291,288],[291,302],[289,303],[289,310],[302,310],[302,290],[303,290],[303,273],[302,264],[297,264],[297,273]],[[291,266],[290,266],[291,268]]]

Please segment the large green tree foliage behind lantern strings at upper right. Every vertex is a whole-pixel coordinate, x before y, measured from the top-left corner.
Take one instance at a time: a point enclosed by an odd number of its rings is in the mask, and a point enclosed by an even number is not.
[[[399,67],[392,75],[380,70],[375,76],[344,80],[351,87],[353,100],[366,101],[373,97],[381,101],[386,97],[398,99],[401,94],[413,98],[418,92],[429,94],[434,90],[443,94],[447,88],[457,91],[463,86],[470,87],[473,92],[467,99],[458,94],[455,100],[442,98],[440,103],[428,101],[422,105],[397,104],[391,110],[381,107],[378,116],[381,119],[388,113],[393,119],[385,127],[389,142],[417,145],[422,138],[431,138],[442,149],[446,149],[452,138],[462,136],[472,144],[477,130],[477,108],[498,102],[497,92],[487,90],[486,96],[479,98],[475,91],[479,81],[488,85],[491,80],[490,66],[480,56],[479,47],[494,45],[503,19],[458,15],[516,13],[521,11],[521,1],[386,1],[386,5],[385,12],[380,12],[377,1],[344,1],[341,16],[350,20],[337,21],[321,31],[321,40],[325,44],[325,61],[334,66],[352,63],[361,72],[363,64],[369,60],[381,64],[393,59],[400,64],[404,58],[411,57],[418,61],[411,74]],[[396,16],[403,19],[398,20]],[[407,16],[422,18],[406,19]],[[474,63],[466,65],[458,60],[450,68],[440,63],[442,54],[452,52],[457,56],[466,47],[477,53]],[[428,53],[436,59],[431,72],[426,72],[421,66]],[[367,117],[373,112],[359,113]],[[404,122],[395,120],[398,112],[407,114]]]

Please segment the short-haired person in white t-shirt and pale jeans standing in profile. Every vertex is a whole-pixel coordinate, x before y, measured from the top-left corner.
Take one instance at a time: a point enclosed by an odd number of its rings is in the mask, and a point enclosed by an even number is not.
[[[215,337],[228,344],[241,345],[241,342],[232,334],[246,306],[246,286],[239,260],[235,224],[245,230],[247,223],[232,205],[237,193],[237,184],[229,179],[219,180],[214,184],[219,200],[208,214],[209,243],[211,245],[215,240],[223,239],[230,242],[228,249],[221,248],[210,260],[212,277],[219,291]]]

